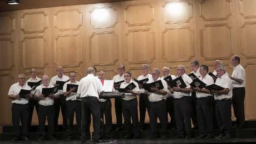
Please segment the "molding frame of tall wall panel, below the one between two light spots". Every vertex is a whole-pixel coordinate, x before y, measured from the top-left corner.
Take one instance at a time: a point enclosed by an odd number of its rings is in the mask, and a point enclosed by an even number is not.
[[[151,29],[130,29],[127,31],[127,33],[125,33],[125,35],[128,36],[130,33],[139,32],[139,31],[149,31],[153,35],[153,46],[156,47],[156,38],[155,38],[156,36],[155,36],[155,33],[151,31]],[[126,47],[128,47],[127,43],[128,42],[126,42]],[[129,64],[140,64],[140,63],[152,63],[154,59],[156,59],[156,48],[153,49],[153,57],[150,58],[150,60],[148,61],[130,61],[128,56],[126,56],[125,61],[127,61]]]

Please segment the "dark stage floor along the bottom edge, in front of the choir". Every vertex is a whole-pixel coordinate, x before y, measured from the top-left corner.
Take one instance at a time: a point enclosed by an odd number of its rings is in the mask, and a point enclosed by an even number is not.
[[[79,140],[56,140],[56,141],[4,141],[0,143],[15,143],[15,144],[24,144],[24,143],[33,143],[33,144],[42,144],[42,143],[49,143],[49,144],[79,144],[81,143]],[[136,139],[136,140],[122,140],[118,139],[114,142],[115,144],[195,144],[195,143],[256,143],[256,138],[233,138],[233,139]],[[104,143],[102,143],[104,144]],[[110,143],[105,143],[110,144]]]

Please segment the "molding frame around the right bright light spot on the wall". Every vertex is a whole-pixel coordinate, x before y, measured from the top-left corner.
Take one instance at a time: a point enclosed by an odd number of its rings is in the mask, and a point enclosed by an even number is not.
[[[190,15],[189,15],[189,17],[185,20],[173,20],[173,21],[166,20],[165,17],[164,17],[164,7],[169,3],[178,3],[178,2],[184,2],[184,3],[187,3],[190,6]],[[189,0],[165,1],[161,9],[162,9],[162,20],[165,22],[165,24],[188,23],[190,21],[190,19],[193,18],[193,3],[191,3]]]

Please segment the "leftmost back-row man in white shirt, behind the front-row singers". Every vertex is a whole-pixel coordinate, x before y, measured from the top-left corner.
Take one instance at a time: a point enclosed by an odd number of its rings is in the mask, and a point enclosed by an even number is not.
[[[26,81],[26,84],[28,84],[28,82],[38,82],[40,80],[41,79],[39,77],[37,77],[36,69],[31,68],[30,69],[30,79],[28,79]],[[31,126],[34,107],[35,107],[36,113],[38,115],[38,101],[36,99],[29,99],[29,127]]]

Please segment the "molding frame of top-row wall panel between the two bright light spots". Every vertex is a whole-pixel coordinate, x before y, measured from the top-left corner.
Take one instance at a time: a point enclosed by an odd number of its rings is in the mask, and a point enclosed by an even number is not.
[[[148,22],[143,22],[143,23],[130,23],[128,20],[127,20],[127,10],[130,8],[130,7],[133,7],[133,6],[149,6],[151,8],[151,12],[152,12],[152,15],[151,15],[151,19],[148,21]],[[128,25],[128,26],[149,26],[151,25],[151,23],[154,21],[154,7],[150,4],[150,3],[136,3],[136,4],[129,4],[125,9],[124,9],[124,17],[125,17],[125,23]]]

